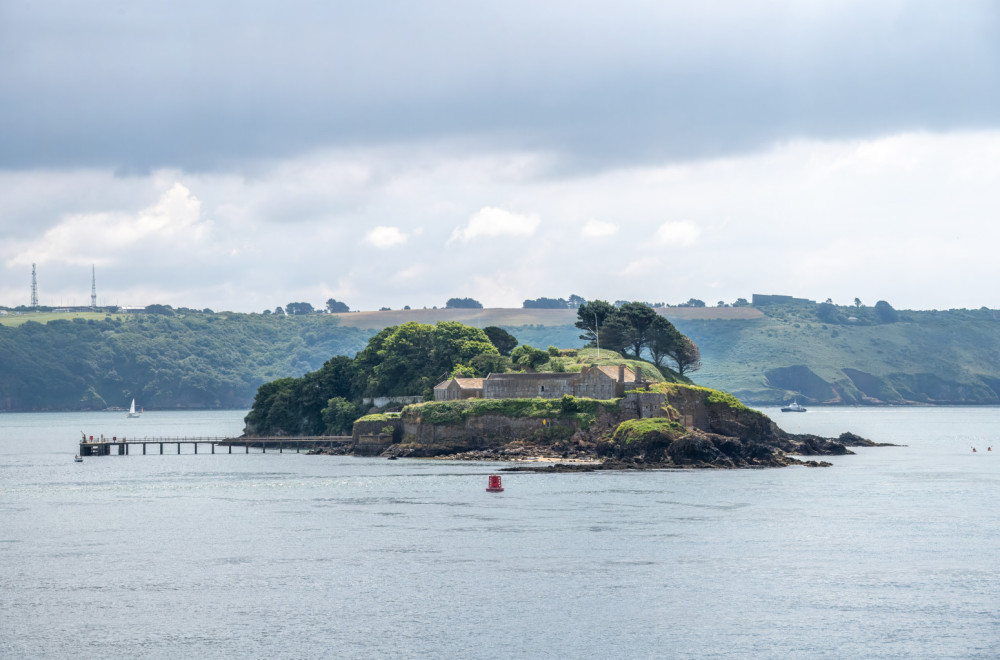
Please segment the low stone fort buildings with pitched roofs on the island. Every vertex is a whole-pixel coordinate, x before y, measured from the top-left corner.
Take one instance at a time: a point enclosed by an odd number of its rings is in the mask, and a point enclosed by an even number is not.
[[[623,365],[584,367],[579,373],[490,374],[486,378],[451,378],[434,387],[435,401],[460,399],[558,399],[565,394],[614,399],[642,387],[642,372]]]

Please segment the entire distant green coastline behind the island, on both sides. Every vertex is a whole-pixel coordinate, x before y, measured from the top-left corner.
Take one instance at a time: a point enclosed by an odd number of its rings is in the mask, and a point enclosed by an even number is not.
[[[465,322],[536,347],[583,345],[571,310],[166,311],[0,317],[0,411],[127,407],[133,396],[146,409],[249,408],[260,384],[353,357],[409,316],[480,314]],[[991,310],[901,310],[895,322],[874,307],[827,309],[826,320],[809,304],[658,311],[701,349],[692,380],[747,403],[1000,404],[1000,314]]]

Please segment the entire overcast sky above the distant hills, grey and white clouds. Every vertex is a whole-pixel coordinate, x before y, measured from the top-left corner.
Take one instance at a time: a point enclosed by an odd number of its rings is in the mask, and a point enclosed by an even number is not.
[[[0,304],[1000,307],[997,7],[0,0]]]

